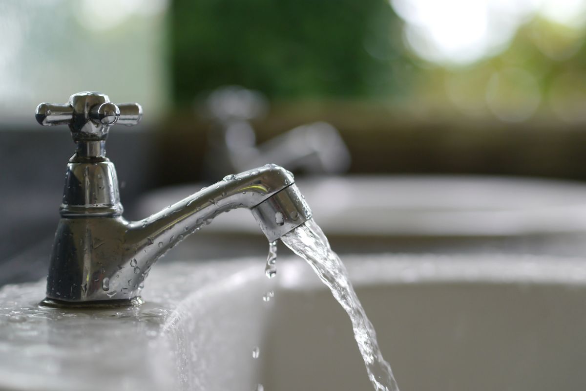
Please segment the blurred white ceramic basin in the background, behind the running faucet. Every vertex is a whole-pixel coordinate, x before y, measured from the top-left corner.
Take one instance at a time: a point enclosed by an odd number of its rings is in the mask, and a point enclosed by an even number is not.
[[[482,176],[343,176],[297,181],[329,236],[522,236],[586,231],[586,186]],[[148,215],[202,185],[163,188],[138,203]],[[247,210],[206,232],[258,233]]]

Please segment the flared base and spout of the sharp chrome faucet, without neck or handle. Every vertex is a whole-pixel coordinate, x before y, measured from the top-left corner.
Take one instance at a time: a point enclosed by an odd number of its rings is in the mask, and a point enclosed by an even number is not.
[[[45,304],[141,302],[144,280],[159,257],[220,213],[236,208],[250,209],[271,242],[311,218],[292,174],[272,164],[228,175],[137,222],[118,215],[62,217]]]

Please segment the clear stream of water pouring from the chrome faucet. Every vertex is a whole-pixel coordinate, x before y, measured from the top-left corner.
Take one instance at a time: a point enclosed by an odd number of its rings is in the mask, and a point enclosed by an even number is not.
[[[384,361],[376,341],[376,332],[366,317],[347,276],[346,267],[332,251],[328,239],[313,219],[281,237],[295,254],[305,259],[322,282],[332,291],[352,321],[354,337],[370,382],[377,391],[398,391],[389,363]]]

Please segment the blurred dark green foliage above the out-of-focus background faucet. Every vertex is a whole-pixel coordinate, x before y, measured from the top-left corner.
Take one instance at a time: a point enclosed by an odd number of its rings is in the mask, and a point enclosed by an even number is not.
[[[278,99],[384,96],[406,79],[386,0],[175,0],[170,25],[178,103],[226,84]]]

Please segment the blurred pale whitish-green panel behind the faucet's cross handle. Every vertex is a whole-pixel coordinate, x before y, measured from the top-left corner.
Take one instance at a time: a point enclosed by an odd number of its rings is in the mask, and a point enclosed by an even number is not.
[[[137,101],[145,123],[156,120],[169,101],[167,8],[168,0],[0,2],[0,124],[32,125],[41,101],[84,90]]]

